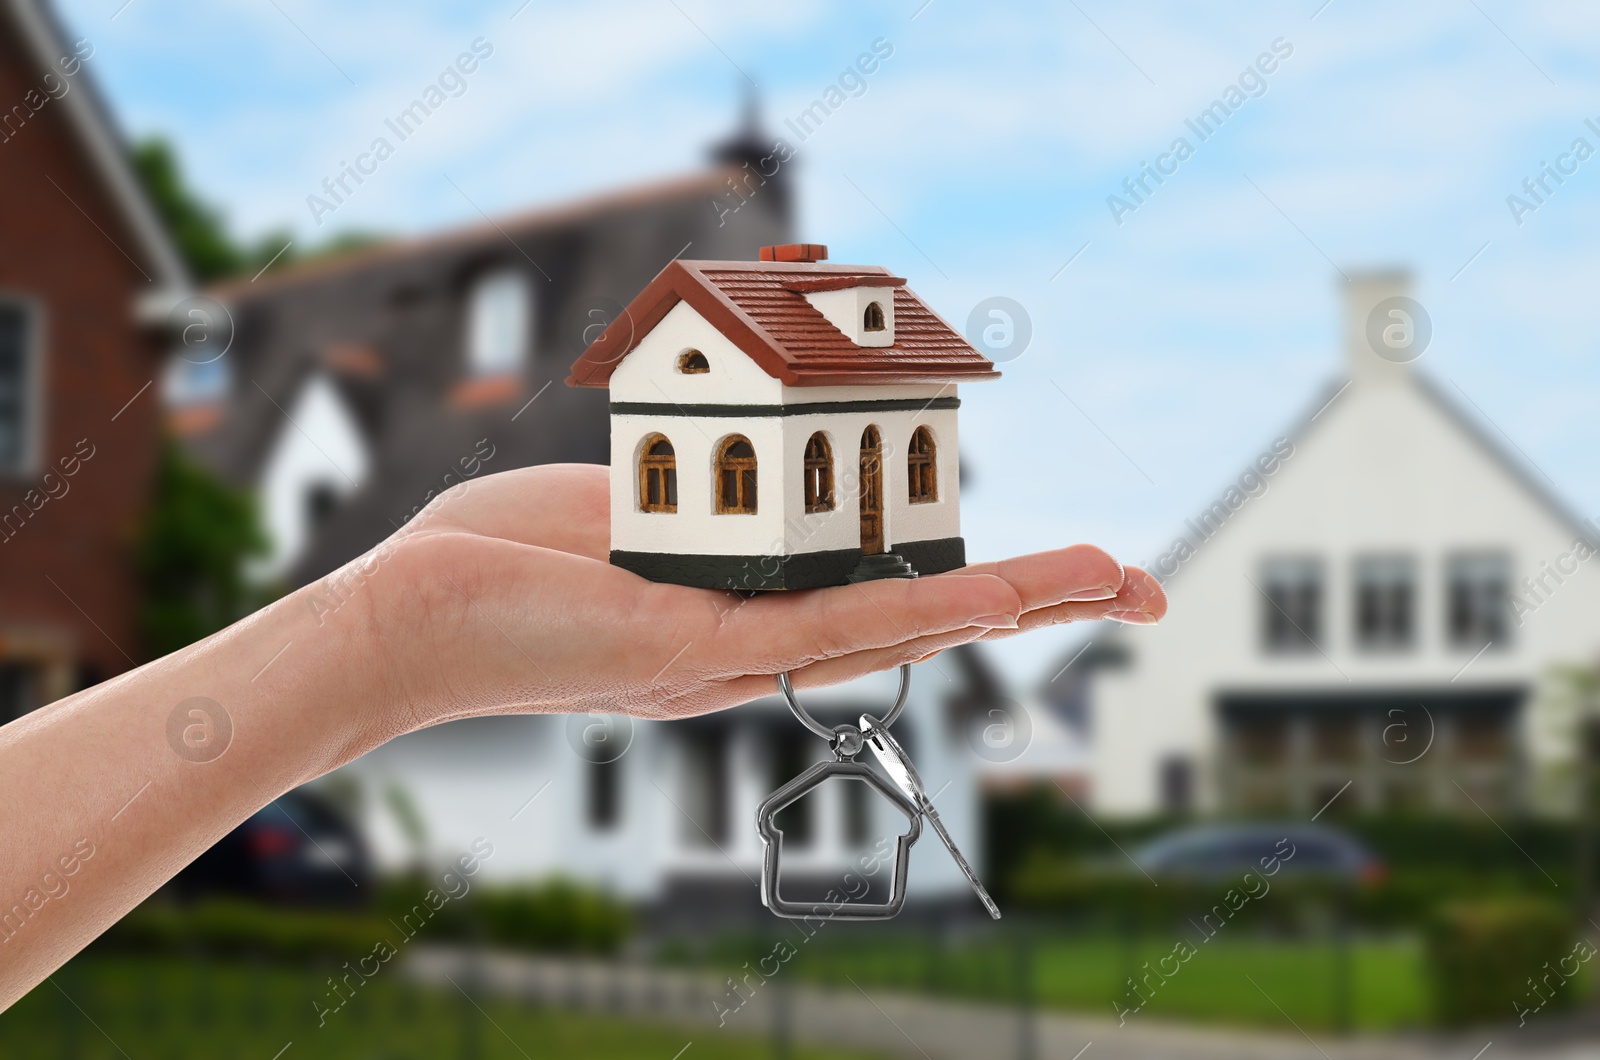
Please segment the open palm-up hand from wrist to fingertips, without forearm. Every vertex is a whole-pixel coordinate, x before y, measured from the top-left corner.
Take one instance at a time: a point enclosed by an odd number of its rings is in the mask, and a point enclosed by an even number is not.
[[[1086,544],[742,599],[613,567],[608,540],[608,471],[552,464],[456,487],[379,546],[392,554],[362,608],[328,620],[384,660],[379,738],[478,714],[686,717],[770,695],[784,671],[835,684],[970,640],[1166,610],[1149,573]]]

